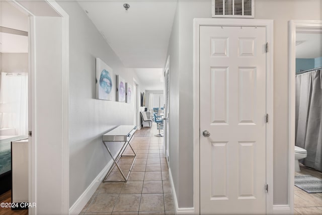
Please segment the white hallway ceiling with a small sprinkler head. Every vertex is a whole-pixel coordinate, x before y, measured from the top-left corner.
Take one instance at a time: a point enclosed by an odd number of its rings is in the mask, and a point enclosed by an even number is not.
[[[177,1],[78,1],[125,67],[135,68],[146,90],[162,90]],[[123,4],[130,8],[126,11]],[[157,68],[157,69],[154,69]]]

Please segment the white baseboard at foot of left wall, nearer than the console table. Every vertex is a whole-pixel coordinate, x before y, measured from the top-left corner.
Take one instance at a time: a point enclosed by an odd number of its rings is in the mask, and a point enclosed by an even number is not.
[[[113,164],[113,160],[111,159],[110,162],[104,167],[104,169],[96,176],[96,178],[92,181],[90,186],[82,193],[81,196],[73,203],[73,205],[69,208],[69,214],[79,214],[90,198],[93,196],[97,188],[102,183],[107,171],[111,168]]]

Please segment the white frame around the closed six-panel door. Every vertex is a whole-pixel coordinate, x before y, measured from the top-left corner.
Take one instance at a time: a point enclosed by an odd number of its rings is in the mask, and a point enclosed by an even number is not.
[[[266,111],[269,122],[266,126],[266,181],[268,194],[267,214],[273,213],[273,20],[249,19],[194,19],[194,94],[193,94],[193,175],[194,210],[200,213],[200,108],[199,108],[199,28],[200,26],[263,26],[266,27],[266,39],[269,51],[266,55]],[[264,48],[264,47],[263,47]],[[264,120],[264,119],[263,119]],[[263,188],[264,189],[264,188]]]

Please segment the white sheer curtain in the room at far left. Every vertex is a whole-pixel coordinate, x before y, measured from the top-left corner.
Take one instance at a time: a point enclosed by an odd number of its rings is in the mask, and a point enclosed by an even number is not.
[[[0,126],[28,134],[28,73],[1,73]]]

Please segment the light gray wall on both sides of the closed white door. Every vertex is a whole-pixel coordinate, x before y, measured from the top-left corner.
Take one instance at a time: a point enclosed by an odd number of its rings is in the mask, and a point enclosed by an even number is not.
[[[193,206],[193,18],[211,18],[211,1],[178,2],[168,49],[170,168],[179,207]],[[287,204],[288,21],[321,20],[321,1],[256,1],[255,18],[274,20],[274,204]]]

